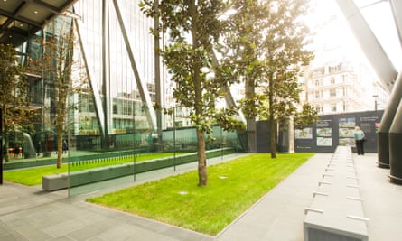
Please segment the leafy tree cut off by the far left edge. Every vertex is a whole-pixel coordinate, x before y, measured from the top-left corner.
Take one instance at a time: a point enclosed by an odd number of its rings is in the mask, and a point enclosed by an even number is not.
[[[18,62],[17,52],[11,44],[0,44],[0,109],[3,110],[5,138],[5,162],[9,161],[10,136],[24,124],[28,110],[28,80],[25,70]],[[14,146],[16,147],[16,146]]]

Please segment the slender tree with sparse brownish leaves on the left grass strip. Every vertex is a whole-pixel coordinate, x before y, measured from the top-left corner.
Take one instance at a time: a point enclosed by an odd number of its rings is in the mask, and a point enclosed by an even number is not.
[[[57,168],[61,168],[63,139],[68,127],[69,102],[72,90],[71,73],[77,63],[73,60],[73,21],[58,17],[49,23],[44,37],[38,41],[43,48],[42,55],[33,61],[33,69],[39,71],[50,88],[50,116],[45,120],[45,128],[56,129]],[[51,150],[48,150],[51,151]]]

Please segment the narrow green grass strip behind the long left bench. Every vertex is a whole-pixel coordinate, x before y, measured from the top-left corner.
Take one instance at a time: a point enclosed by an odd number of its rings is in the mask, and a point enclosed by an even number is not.
[[[176,153],[176,155],[179,154],[182,153]],[[173,153],[139,154],[136,155],[136,162],[144,162],[146,160],[164,158],[168,156],[173,156]],[[74,164],[70,163],[70,171],[88,170],[92,168],[116,165],[126,162],[133,162],[133,156],[105,159],[104,162],[88,161],[88,162],[76,162]],[[29,169],[4,171],[3,177],[6,181],[13,181],[27,186],[34,186],[42,183],[42,176],[65,173],[68,171],[69,171],[69,164],[64,163],[63,165],[61,165],[60,169],[58,169],[56,165],[51,165],[51,166],[34,167]]]

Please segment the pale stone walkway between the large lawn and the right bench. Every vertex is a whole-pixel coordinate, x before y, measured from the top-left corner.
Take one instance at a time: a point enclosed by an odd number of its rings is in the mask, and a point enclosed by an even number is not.
[[[332,153],[316,154],[220,233],[220,241],[303,240],[304,208]],[[248,227],[248,230],[245,230]]]

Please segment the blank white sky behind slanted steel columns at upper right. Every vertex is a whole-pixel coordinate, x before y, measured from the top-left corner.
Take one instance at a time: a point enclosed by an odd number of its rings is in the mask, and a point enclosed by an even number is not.
[[[312,29],[317,32],[314,42],[319,48],[313,66],[342,60],[364,62],[370,66],[336,0],[312,0],[312,2],[313,13],[308,21]],[[388,1],[354,0],[354,2],[360,8],[360,13],[377,36],[382,48],[387,52],[395,69],[399,70],[402,67],[402,50]]]

